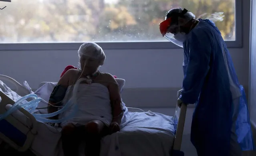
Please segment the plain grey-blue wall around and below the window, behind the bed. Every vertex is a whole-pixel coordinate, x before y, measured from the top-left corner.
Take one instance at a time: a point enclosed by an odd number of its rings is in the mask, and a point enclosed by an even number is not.
[[[250,0],[243,0],[243,47],[230,48],[239,81],[248,92]],[[174,114],[177,90],[182,85],[182,49],[107,49],[101,70],[126,80],[122,93],[128,107],[139,107],[166,115]],[[67,65],[77,65],[76,50],[0,51],[0,74],[18,82],[27,81],[35,90],[42,81],[58,81]],[[188,108],[182,150],[196,156],[190,142],[193,107]]]

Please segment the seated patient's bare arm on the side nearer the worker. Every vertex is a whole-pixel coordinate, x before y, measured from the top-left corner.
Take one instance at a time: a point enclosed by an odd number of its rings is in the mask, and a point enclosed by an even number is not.
[[[119,92],[119,85],[111,74],[108,75],[108,81],[111,82],[108,85],[108,89],[112,107],[112,122],[117,122],[120,125],[123,117],[123,108],[121,94]]]

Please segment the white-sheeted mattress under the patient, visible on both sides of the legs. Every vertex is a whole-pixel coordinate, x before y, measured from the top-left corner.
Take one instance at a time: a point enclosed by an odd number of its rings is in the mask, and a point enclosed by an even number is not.
[[[29,119],[19,111],[12,114],[25,125]],[[105,136],[101,141],[101,156],[169,156],[174,140],[173,117],[161,113],[128,112],[120,132]],[[64,156],[61,128],[38,122],[38,133],[30,150],[37,156]],[[83,150],[81,150],[83,151]],[[81,156],[83,156],[81,152]]]

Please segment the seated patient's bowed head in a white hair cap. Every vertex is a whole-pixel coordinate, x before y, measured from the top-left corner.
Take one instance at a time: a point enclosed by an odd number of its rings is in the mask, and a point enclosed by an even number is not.
[[[103,49],[93,42],[83,43],[79,47],[78,55],[81,66],[79,68],[87,75],[91,75],[97,71],[106,59]]]

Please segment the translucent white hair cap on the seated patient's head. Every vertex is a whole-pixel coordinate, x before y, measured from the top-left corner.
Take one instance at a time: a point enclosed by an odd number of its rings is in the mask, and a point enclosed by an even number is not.
[[[78,49],[78,56],[80,57],[87,56],[100,61],[100,66],[104,64],[106,59],[103,49],[93,42],[85,42]]]

